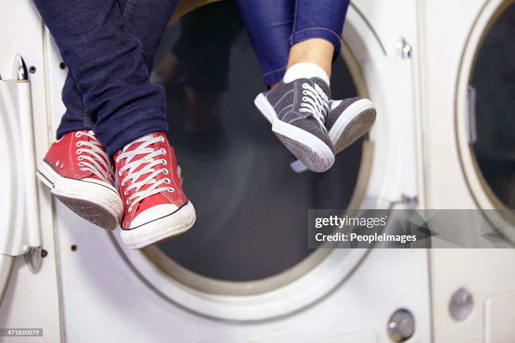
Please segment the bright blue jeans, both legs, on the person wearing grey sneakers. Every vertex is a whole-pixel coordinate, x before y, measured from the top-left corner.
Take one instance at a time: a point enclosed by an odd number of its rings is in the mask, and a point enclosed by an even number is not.
[[[279,82],[295,43],[322,38],[341,49],[349,0],[236,0],[267,85]]]

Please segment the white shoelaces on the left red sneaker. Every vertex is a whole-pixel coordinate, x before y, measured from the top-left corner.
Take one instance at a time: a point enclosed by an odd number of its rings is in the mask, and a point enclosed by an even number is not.
[[[80,156],[77,163],[80,166],[80,170],[91,171],[93,174],[98,176],[100,179],[108,180],[111,184],[114,183],[113,168],[111,165],[111,159],[107,155],[107,152],[102,148],[102,145],[97,140],[97,136],[93,131],[77,131],[75,133],[77,138],[81,136],[87,136],[90,141],[78,141],[75,145],[80,147],[75,152]]]

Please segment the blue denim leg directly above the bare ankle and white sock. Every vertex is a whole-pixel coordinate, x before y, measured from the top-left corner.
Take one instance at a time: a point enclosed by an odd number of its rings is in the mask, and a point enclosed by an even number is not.
[[[297,0],[290,44],[322,38],[333,44],[338,56],[348,7],[349,0]]]

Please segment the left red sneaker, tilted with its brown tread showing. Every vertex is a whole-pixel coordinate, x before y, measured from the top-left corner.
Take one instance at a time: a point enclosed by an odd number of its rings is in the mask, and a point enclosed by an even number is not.
[[[70,210],[93,224],[114,230],[122,220],[122,199],[113,186],[114,170],[93,131],[65,133],[54,142],[36,176]]]

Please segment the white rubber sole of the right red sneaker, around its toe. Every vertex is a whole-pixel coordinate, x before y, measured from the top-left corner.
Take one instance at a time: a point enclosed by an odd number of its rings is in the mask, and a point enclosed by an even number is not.
[[[134,229],[122,229],[120,235],[127,248],[141,249],[179,236],[189,230],[196,219],[195,208],[191,201],[188,201],[176,212]]]

